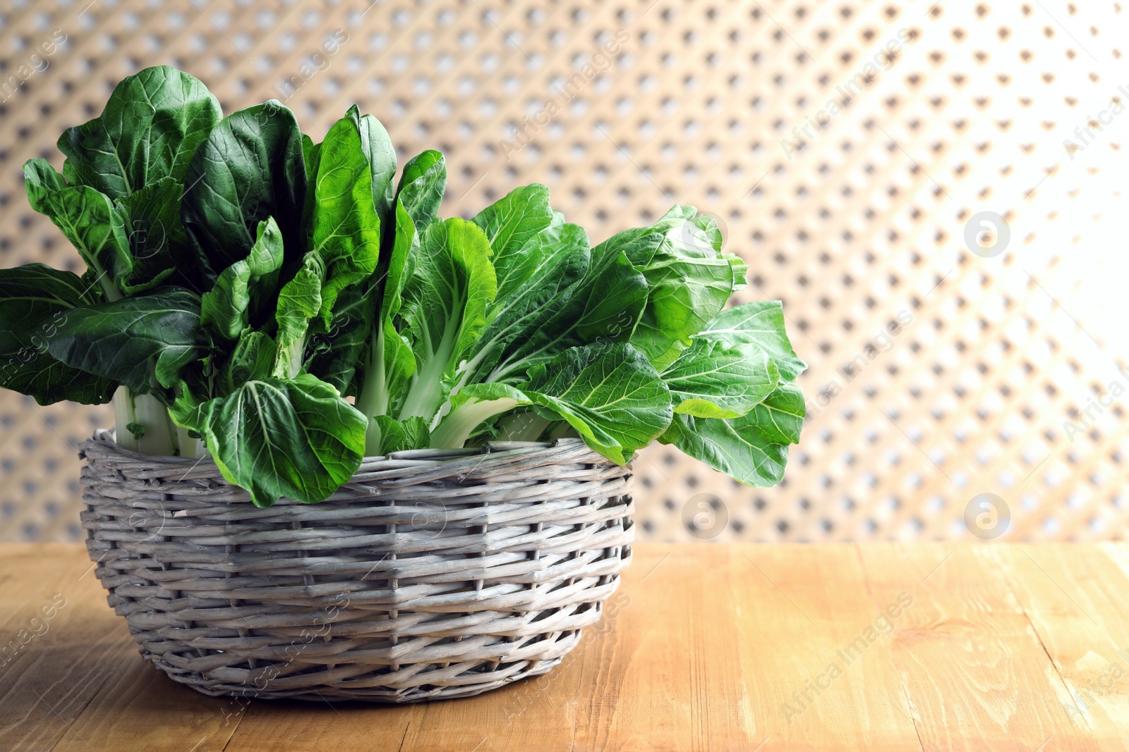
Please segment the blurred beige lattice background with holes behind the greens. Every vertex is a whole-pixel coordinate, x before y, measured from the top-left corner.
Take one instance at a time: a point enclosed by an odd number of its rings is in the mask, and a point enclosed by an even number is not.
[[[674,203],[781,299],[808,404],[777,488],[655,445],[649,540],[1088,540],[1129,519],[1120,3],[6,0],[0,259],[78,268],[23,163],[170,64],[225,113],[352,103],[445,215],[544,183],[593,241]],[[110,406],[0,393],[0,540],[79,540]]]

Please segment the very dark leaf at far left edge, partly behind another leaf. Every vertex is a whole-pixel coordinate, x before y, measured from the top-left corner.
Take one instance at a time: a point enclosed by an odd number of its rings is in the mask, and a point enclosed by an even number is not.
[[[96,302],[96,291],[71,272],[43,264],[0,269],[0,386],[40,405],[108,402],[114,381],[60,363],[47,352],[70,311]]]

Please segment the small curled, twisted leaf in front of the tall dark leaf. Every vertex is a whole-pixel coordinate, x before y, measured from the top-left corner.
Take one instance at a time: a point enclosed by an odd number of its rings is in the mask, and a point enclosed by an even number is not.
[[[259,223],[255,245],[246,258],[220,272],[200,300],[200,322],[225,339],[235,340],[253,312],[268,307],[282,266],[282,232],[268,216]]]

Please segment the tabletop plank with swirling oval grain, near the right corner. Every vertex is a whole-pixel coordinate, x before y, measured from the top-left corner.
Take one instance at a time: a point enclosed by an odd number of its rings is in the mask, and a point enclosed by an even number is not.
[[[921,574],[893,635],[921,747],[1096,749],[1064,709],[1068,690],[1007,578],[977,548],[860,548],[877,602],[904,591],[905,572]]]

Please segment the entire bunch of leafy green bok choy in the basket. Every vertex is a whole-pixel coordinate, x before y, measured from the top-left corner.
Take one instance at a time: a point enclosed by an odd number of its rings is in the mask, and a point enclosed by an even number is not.
[[[275,100],[221,117],[172,68],[59,148],[27,195],[87,268],[0,271],[0,383],[113,398],[120,444],[210,453],[257,505],[322,501],[365,455],[561,436],[769,486],[799,439],[780,303],[726,308],[747,269],[691,206],[595,247],[542,185],[444,220],[439,152],[396,180],[356,107],[314,143]]]

